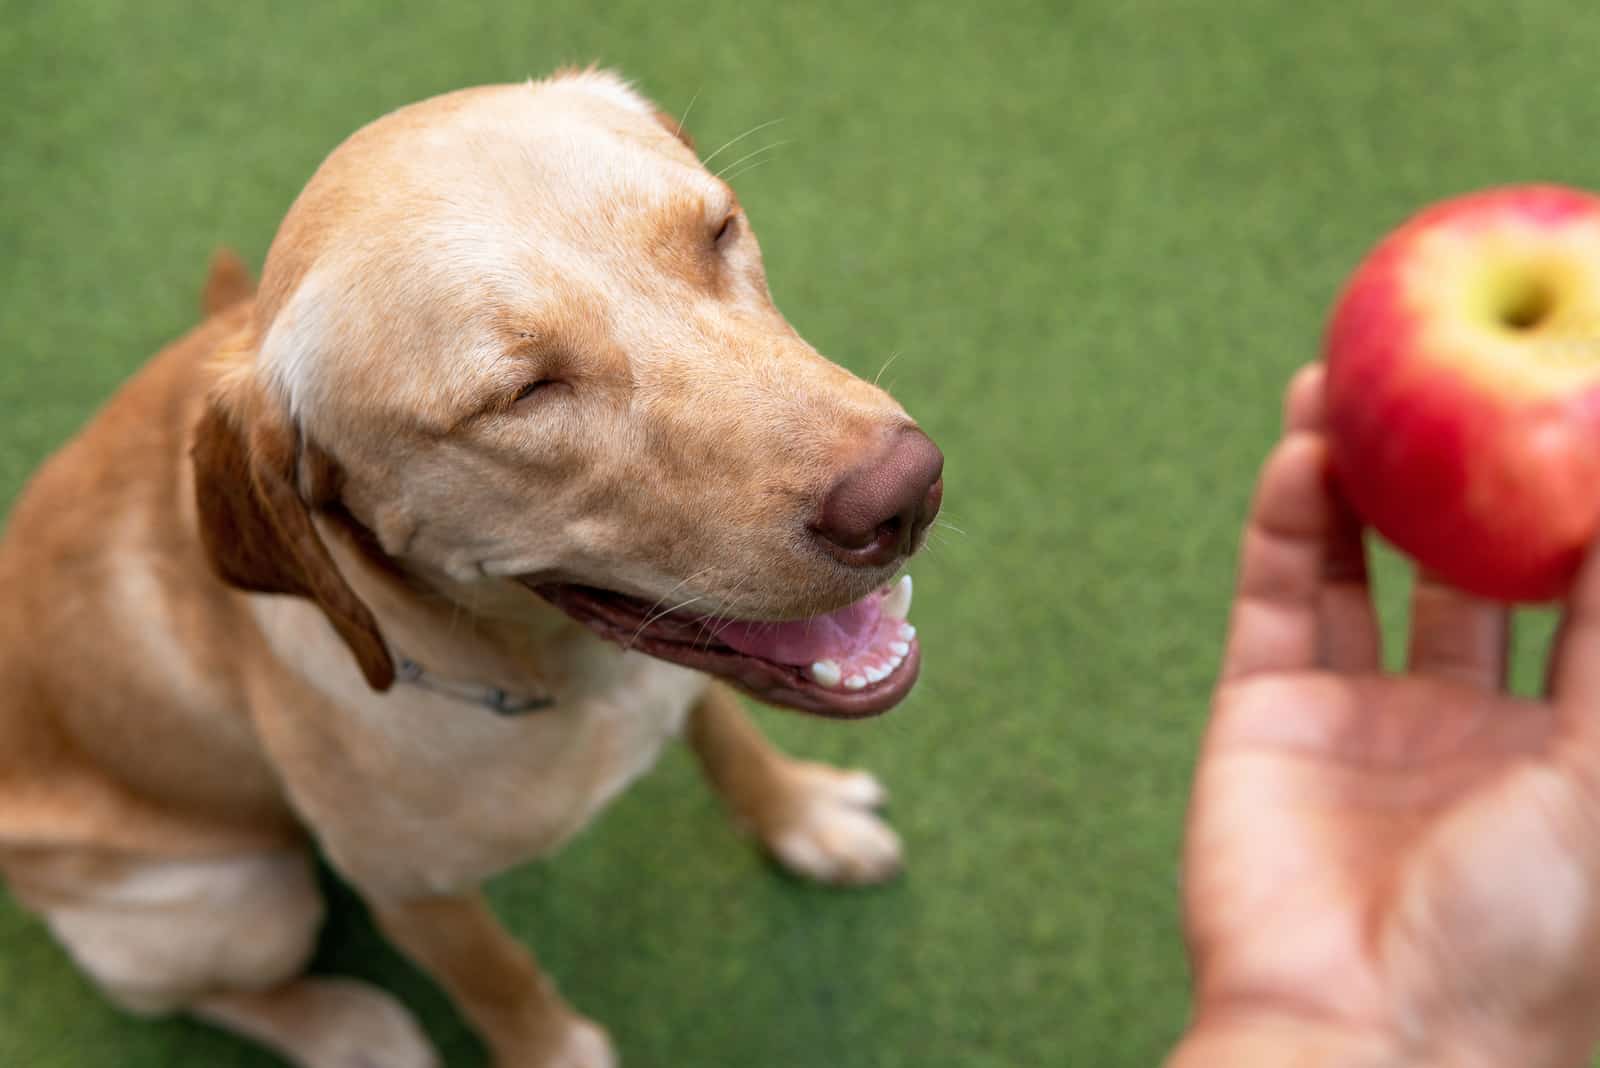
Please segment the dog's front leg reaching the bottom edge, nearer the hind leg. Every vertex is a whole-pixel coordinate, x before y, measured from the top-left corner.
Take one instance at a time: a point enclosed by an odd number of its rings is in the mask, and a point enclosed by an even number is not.
[[[450,993],[496,1068],[614,1068],[611,1042],[578,1015],[480,894],[373,902],[378,924]]]

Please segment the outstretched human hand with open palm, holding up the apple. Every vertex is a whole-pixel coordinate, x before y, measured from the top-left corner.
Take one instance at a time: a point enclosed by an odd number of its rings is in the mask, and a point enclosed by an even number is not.
[[[1419,577],[1386,675],[1322,371],[1267,460],[1195,772],[1171,1068],[1584,1065],[1600,1038],[1600,556],[1542,700],[1507,611]],[[1600,492],[1600,488],[1597,488]]]

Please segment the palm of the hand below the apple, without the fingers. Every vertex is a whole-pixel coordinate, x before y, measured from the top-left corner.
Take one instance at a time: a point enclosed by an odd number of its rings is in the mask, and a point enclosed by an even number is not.
[[[1600,883],[1555,734],[1549,705],[1426,676],[1221,687],[1187,851],[1202,999],[1397,1044],[1578,1009]]]

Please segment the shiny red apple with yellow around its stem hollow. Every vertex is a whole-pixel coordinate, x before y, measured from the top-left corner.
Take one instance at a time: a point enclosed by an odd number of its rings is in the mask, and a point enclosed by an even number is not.
[[[1357,269],[1325,357],[1334,473],[1379,534],[1469,593],[1568,590],[1600,529],[1600,197],[1422,211]]]

